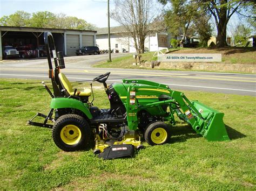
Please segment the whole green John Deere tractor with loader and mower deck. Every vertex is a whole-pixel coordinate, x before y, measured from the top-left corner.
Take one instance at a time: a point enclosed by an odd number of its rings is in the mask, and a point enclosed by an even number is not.
[[[60,149],[77,151],[95,144],[93,152],[104,159],[132,156],[135,149],[143,148],[142,137],[149,145],[169,142],[170,126],[176,124],[174,115],[209,141],[229,140],[223,113],[190,101],[165,84],[124,79],[108,86],[107,72],[92,81],[103,83],[110,109],[93,106],[92,84],[90,88],[73,88],[61,71],[65,68],[63,53],[56,54],[50,32],[44,33],[44,41],[53,93],[42,83],[52,97],[51,110],[47,116],[37,113],[28,124],[52,129],[53,141]],[[33,122],[37,116],[43,117],[44,122]]]

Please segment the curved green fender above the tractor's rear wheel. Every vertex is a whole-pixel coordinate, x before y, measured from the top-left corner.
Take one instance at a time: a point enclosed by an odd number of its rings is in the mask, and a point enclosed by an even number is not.
[[[67,98],[67,97],[56,97],[52,98],[50,107],[52,109],[60,109],[60,108],[74,108],[78,109],[91,119],[92,115],[89,111],[89,106],[87,103],[82,103],[79,100],[73,99],[73,98]]]

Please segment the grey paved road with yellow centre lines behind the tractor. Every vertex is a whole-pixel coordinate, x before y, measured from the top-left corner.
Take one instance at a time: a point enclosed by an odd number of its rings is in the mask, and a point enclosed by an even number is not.
[[[66,58],[66,68],[63,69],[63,72],[69,77],[70,81],[91,81],[100,74],[111,72],[107,80],[109,83],[121,82],[122,79],[143,79],[165,83],[175,90],[200,90],[256,96],[256,75],[90,67],[92,63],[96,63],[100,59],[106,60],[107,55]],[[48,79],[48,65],[45,59],[7,61],[0,63],[0,67],[0,77]]]

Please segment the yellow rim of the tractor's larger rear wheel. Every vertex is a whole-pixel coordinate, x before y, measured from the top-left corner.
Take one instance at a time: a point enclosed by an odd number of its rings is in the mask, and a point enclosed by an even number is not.
[[[60,138],[67,145],[75,145],[81,139],[81,131],[76,125],[66,125],[60,131]]]

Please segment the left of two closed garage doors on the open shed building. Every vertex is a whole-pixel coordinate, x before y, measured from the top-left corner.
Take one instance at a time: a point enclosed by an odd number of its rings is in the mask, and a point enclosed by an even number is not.
[[[76,55],[76,49],[79,49],[79,35],[67,34],[66,35],[66,55]]]

